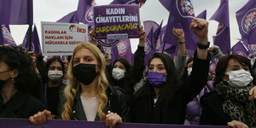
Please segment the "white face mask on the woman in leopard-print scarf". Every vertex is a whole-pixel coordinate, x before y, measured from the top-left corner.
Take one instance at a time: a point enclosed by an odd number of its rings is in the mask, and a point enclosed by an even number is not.
[[[227,81],[234,88],[244,88],[253,81],[251,73],[241,69],[238,71],[226,72],[230,80]]]

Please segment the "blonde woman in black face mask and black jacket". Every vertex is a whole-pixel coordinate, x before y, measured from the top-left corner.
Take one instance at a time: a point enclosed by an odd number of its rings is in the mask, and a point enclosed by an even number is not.
[[[124,94],[108,85],[105,59],[94,44],[79,44],[73,50],[67,74],[69,83],[61,96],[61,119],[102,120],[109,127],[129,121]],[[43,125],[52,115],[44,110],[29,119]]]

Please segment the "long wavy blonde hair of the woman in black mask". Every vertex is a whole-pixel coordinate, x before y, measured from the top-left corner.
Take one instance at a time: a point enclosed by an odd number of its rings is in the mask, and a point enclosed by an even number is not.
[[[105,93],[108,88],[108,80],[105,74],[105,59],[102,55],[101,50],[98,49],[96,45],[90,44],[90,43],[79,44],[73,50],[73,56],[80,49],[89,49],[90,52],[96,56],[96,61],[98,62],[97,67],[99,69],[99,73],[96,76],[96,81],[97,81],[96,99],[98,100],[97,113],[99,114],[100,119],[102,119],[102,114],[103,114],[102,109],[107,105],[107,102],[108,102],[108,97]],[[73,57],[68,66],[67,76],[68,76],[69,82],[67,84],[67,87],[64,90],[64,96],[66,98],[66,102],[64,103],[63,111],[61,113],[61,119],[72,119],[73,101],[79,89],[79,81],[75,79],[73,76]]]

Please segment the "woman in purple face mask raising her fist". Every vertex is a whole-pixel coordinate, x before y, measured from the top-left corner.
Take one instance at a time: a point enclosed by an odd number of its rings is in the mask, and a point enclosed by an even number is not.
[[[137,123],[180,124],[186,105],[207,83],[210,54],[207,52],[207,20],[193,19],[191,30],[198,39],[191,79],[179,80],[172,58],[156,53],[148,61],[147,81],[132,99],[131,119]]]

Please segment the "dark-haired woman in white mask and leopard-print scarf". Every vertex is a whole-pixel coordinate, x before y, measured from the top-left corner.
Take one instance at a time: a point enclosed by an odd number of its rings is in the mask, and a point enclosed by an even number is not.
[[[201,124],[256,126],[254,84],[253,69],[247,57],[226,55],[218,60],[216,91],[201,97]]]

